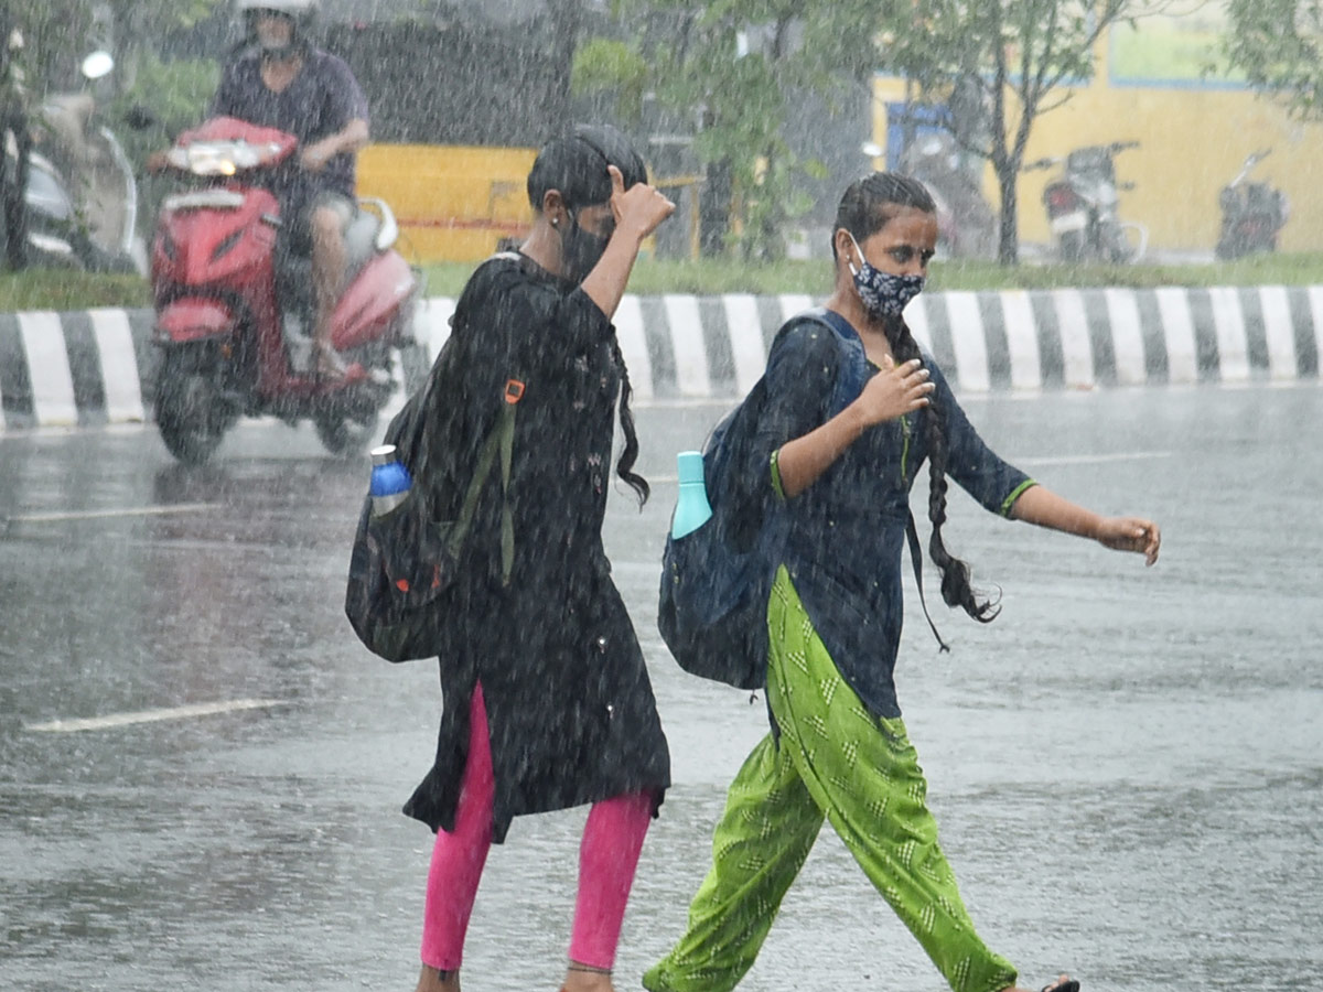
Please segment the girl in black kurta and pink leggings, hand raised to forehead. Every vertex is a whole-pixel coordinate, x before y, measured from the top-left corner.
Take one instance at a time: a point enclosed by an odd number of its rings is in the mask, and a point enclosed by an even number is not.
[[[610,321],[639,243],[673,209],[644,176],[609,128],[579,128],[542,149],[528,183],[533,231],[464,287],[447,344],[463,374],[451,362],[452,392],[429,390],[421,411],[429,427],[445,425],[427,442],[447,450],[429,460],[446,467],[427,493],[434,504],[454,501],[456,487],[442,480],[464,477],[501,403],[513,401],[516,417],[505,496],[513,567],[503,581],[503,503],[491,480],[466,546],[471,581],[441,645],[435,763],[405,806],[438,832],[419,992],[459,988],[483,861],[511,819],[583,803],[594,807],[565,988],[610,989],[634,865],[669,786],[643,653],[601,533],[617,397],[626,438],[618,474],[647,496],[631,471],[628,380]],[[439,505],[438,518],[452,509]]]

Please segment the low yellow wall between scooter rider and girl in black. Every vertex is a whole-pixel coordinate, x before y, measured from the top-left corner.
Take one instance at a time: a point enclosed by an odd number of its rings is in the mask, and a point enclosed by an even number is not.
[[[476,262],[528,233],[527,179],[537,151],[373,144],[359,155],[359,194],[385,200],[410,261]]]

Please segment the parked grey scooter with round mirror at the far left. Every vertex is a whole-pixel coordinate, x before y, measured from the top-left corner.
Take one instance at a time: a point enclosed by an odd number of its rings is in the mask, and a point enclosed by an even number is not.
[[[89,81],[114,69],[106,52],[82,62]],[[28,155],[28,263],[134,272],[138,183],[115,134],[97,116],[89,91],[48,97],[34,122]]]

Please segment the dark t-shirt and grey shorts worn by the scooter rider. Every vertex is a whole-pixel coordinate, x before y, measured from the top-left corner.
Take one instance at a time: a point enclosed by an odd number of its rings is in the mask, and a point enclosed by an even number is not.
[[[299,74],[275,93],[262,81],[262,56],[254,50],[225,66],[212,98],[210,116],[275,127],[307,147],[343,131],[351,120],[366,120],[368,99],[349,66],[320,49],[308,49]],[[271,177],[270,185],[286,212],[299,217],[323,192],[339,193],[353,202],[355,155],[332,156],[320,172],[308,172],[291,161]]]

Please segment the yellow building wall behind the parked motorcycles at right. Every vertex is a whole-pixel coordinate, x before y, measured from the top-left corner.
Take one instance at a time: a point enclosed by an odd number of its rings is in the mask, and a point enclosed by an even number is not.
[[[1211,251],[1221,222],[1218,190],[1240,172],[1250,152],[1271,148],[1249,179],[1269,181],[1287,194],[1290,217],[1279,247],[1323,250],[1323,186],[1316,179],[1323,171],[1323,124],[1294,120],[1271,99],[1229,85],[1114,82],[1106,41],[1095,50],[1093,81],[1070,93],[1065,104],[1035,120],[1025,161],[1065,156],[1081,145],[1139,142],[1139,148],[1119,152],[1115,159],[1117,181],[1135,184],[1121,192],[1119,213],[1122,221],[1148,229],[1150,249]],[[873,134],[885,148],[885,104],[904,101],[905,85],[878,77],[875,95]],[[1013,97],[1007,106],[1016,107]],[[1023,242],[1050,241],[1041,197],[1057,175],[1060,167],[1021,173]],[[996,208],[1000,198],[991,165],[984,186],[988,202]]]

